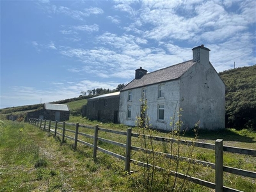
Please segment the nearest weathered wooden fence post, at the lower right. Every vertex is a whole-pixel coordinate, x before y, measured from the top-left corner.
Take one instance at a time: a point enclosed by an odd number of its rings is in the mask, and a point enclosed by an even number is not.
[[[215,141],[215,191],[223,192],[223,140]]]

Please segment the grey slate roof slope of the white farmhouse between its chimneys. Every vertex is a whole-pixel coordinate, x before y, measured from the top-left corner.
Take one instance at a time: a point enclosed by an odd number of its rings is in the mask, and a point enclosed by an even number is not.
[[[124,88],[122,88],[121,92],[125,90],[131,90],[133,88],[148,86],[150,84],[178,79],[194,64],[195,62],[193,62],[193,60],[189,60],[177,65],[172,65],[170,67],[150,72],[141,77],[141,79],[133,79]]]

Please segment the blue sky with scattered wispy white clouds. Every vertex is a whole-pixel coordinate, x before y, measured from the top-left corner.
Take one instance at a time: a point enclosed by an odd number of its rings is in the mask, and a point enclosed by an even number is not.
[[[0,2],[0,108],[113,89],[201,44],[218,72],[256,64],[255,0]]]

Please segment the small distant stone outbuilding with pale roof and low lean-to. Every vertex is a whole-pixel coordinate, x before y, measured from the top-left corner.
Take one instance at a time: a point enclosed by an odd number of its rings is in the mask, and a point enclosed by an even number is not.
[[[69,120],[70,110],[66,104],[45,103],[44,108],[38,111],[29,112],[28,118],[40,118],[54,121]]]

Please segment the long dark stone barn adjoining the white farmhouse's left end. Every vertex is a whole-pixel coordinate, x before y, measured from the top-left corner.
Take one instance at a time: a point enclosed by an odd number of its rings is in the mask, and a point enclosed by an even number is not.
[[[120,92],[108,93],[88,99],[87,118],[99,122],[118,123]]]

